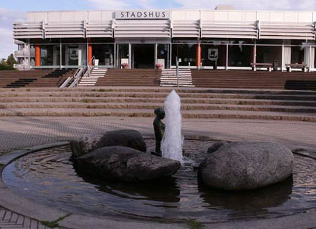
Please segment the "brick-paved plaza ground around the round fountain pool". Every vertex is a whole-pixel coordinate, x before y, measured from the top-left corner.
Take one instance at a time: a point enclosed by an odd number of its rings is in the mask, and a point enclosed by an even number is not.
[[[4,154],[12,150],[114,129],[137,129],[144,134],[153,134],[152,121],[152,118],[123,117],[1,117],[0,152]],[[187,137],[269,140],[284,143],[292,149],[316,149],[316,122],[185,119],[183,133]],[[0,207],[0,228],[45,227],[37,221]]]

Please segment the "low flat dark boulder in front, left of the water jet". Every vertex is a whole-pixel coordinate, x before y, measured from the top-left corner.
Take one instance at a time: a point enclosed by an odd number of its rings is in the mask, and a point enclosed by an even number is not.
[[[171,176],[180,162],[122,146],[93,150],[75,159],[77,169],[112,181],[147,181]]]

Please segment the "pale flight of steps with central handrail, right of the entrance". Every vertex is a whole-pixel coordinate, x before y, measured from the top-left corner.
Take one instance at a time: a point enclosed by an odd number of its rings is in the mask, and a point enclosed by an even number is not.
[[[191,70],[179,69],[179,79],[177,78],[176,69],[162,70],[160,86],[194,87],[192,83]]]

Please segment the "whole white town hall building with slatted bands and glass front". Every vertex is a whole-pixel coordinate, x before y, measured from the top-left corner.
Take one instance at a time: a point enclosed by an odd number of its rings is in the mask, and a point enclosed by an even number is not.
[[[251,70],[251,63],[315,63],[316,12],[58,11],[15,22],[20,69],[176,67]],[[93,61],[92,61],[93,60]],[[93,62],[93,63],[92,63]]]

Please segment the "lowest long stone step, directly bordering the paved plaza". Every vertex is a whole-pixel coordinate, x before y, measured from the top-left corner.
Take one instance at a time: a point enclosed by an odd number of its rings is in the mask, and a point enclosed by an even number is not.
[[[186,110],[182,112],[183,118],[192,119],[264,119],[264,120],[288,120],[316,122],[316,116],[313,113],[282,113],[282,112],[253,112],[253,111],[235,111],[235,110]],[[25,108],[25,109],[0,109],[0,116],[49,116],[49,117],[154,117],[152,110],[143,109],[69,109],[69,108]]]

